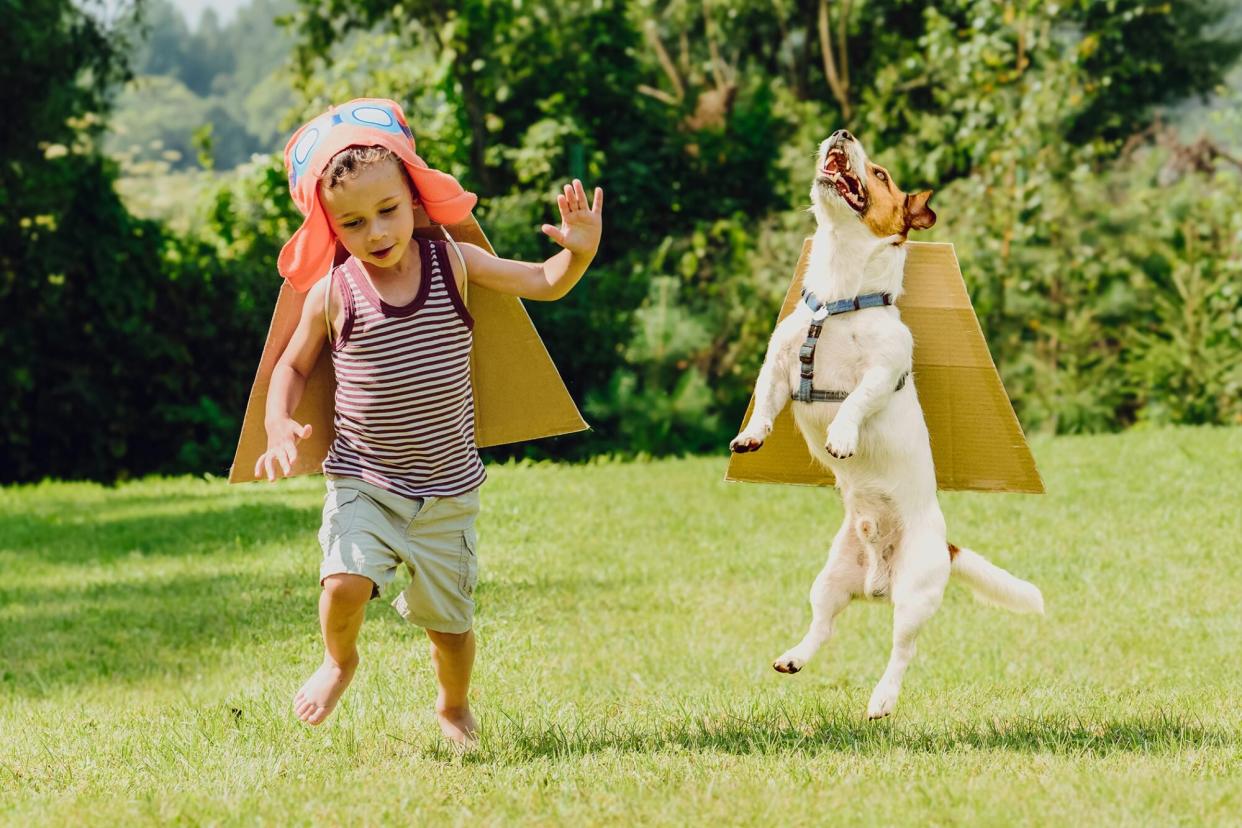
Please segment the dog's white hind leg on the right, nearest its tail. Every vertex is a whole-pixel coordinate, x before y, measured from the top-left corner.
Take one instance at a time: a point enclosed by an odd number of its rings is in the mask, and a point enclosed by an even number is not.
[[[868,719],[893,711],[902,691],[902,679],[914,658],[914,639],[923,624],[940,608],[949,583],[949,556],[940,551],[943,535],[910,529],[893,560],[893,652],[888,668],[871,694]]]

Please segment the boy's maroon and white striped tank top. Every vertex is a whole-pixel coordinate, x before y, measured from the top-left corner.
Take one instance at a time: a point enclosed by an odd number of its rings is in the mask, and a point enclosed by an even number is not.
[[[474,320],[447,243],[414,241],[422,278],[404,307],[380,299],[353,257],[332,273],[345,315],[332,344],[337,437],[323,470],[407,498],[452,497],[486,477],[469,380]]]

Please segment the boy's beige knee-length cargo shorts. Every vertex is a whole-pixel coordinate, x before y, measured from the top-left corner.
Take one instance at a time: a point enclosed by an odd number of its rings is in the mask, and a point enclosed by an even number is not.
[[[392,606],[410,623],[463,633],[474,623],[474,518],[478,489],[452,498],[411,499],[349,477],[329,477],[323,504],[319,582],[361,575],[371,597],[405,565],[410,586]]]

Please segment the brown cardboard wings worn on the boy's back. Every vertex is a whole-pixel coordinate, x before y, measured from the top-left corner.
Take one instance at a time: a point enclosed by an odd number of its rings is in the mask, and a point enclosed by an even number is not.
[[[415,211],[416,235],[443,238],[443,230],[431,225],[421,210]],[[471,242],[491,251],[492,245],[473,216],[446,228],[460,242]],[[263,344],[263,355],[250,390],[241,438],[229,470],[230,483],[248,483],[255,463],[267,451],[263,415],[267,389],[276,361],[284,351],[307,294],[283,283],[272,314],[272,325]],[[565,390],[548,349],[530,323],[517,297],[478,286],[469,286],[466,303],[474,317],[474,348],[471,353],[471,381],[474,389],[474,442],[482,448],[584,431],[587,426]],[[302,401],[293,412],[301,423],[310,423],[310,437],[298,444],[298,459],[289,473],[318,474],[335,436],[333,407],[337,389],[332,355],[327,348],[319,356]]]

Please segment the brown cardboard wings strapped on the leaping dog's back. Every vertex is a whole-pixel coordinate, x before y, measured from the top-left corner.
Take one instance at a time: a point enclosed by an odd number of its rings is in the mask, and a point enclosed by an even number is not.
[[[979,328],[953,245],[908,242],[907,247],[905,292],[897,304],[914,335],[915,387],[932,434],[936,484],[1042,494],[1043,480]],[[799,300],[810,251],[807,238],[780,319]],[[743,423],[754,408],[751,397]],[[832,473],[811,458],[789,406],[761,449],[732,456],[725,479],[835,484]]]

